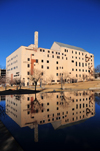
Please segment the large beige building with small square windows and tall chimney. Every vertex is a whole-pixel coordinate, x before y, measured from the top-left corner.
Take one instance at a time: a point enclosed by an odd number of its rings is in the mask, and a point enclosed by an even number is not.
[[[33,69],[43,71],[43,78],[58,83],[83,81],[93,78],[94,55],[86,50],[54,42],[51,49],[38,48],[38,32],[34,44],[21,46],[6,58],[7,76],[13,80],[21,78],[24,85],[31,84],[29,74]]]

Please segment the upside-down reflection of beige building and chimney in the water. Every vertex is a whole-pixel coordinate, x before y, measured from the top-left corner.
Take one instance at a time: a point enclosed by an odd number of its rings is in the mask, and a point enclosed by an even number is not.
[[[6,96],[6,113],[20,127],[34,128],[38,142],[38,125],[51,123],[54,129],[81,123],[95,115],[92,91],[38,93]]]

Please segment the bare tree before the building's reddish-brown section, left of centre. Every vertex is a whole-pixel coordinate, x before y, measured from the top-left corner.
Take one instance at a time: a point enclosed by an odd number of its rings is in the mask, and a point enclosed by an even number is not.
[[[29,79],[32,83],[35,85],[35,91],[36,91],[36,86],[37,82],[41,79],[43,79],[43,71],[38,70],[38,69],[33,69],[33,72],[30,72]]]

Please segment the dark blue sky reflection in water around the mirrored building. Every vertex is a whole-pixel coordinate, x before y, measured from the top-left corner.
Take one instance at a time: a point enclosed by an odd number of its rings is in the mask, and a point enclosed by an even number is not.
[[[0,102],[4,106],[5,102]],[[95,149],[99,147],[100,106],[95,104],[95,116],[80,124],[54,130],[51,123],[38,125],[38,142],[34,143],[34,129],[21,128],[8,115],[1,118],[24,150]],[[42,147],[42,148],[41,148]]]

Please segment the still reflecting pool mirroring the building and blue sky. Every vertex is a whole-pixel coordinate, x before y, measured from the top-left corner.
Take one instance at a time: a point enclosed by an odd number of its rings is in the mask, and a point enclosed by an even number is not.
[[[7,95],[0,120],[25,151],[99,147],[100,98],[92,91]]]

